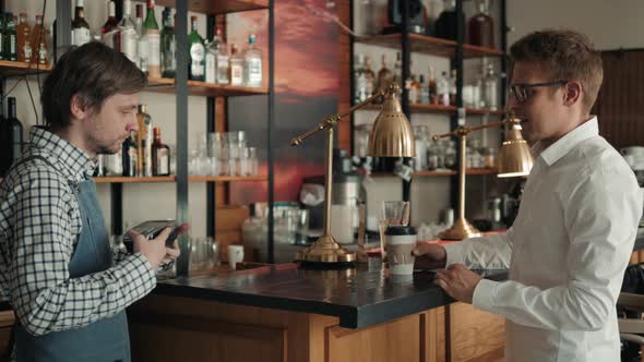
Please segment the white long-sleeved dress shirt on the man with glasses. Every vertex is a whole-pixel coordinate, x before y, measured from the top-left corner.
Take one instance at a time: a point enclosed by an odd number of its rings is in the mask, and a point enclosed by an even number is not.
[[[508,361],[619,361],[615,304],[642,216],[633,171],[597,118],[532,150],[512,228],[445,245],[448,265],[510,268],[506,281],[481,280],[473,300],[506,318]]]

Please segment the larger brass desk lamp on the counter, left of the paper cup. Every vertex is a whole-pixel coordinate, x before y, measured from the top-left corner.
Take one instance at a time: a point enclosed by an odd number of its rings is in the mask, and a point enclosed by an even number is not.
[[[369,156],[375,157],[414,157],[416,144],[414,132],[407,120],[401,102],[396,98],[398,85],[392,83],[385,89],[380,89],[373,96],[351,107],[344,113],[327,117],[314,129],[299,135],[290,142],[291,146],[302,144],[305,140],[326,130],[326,156],[324,167],[324,231],[315,243],[297,253],[297,260],[303,264],[321,267],[350,266],[356,262],[356,254],[342,248],[331,234],[331,195],[333,186],[333,129],[342,121],[343,117],[350,114],[356,109],[362,108],[373,100],[384,98],[382,110],[375,118],[371,133],[369,134]]]

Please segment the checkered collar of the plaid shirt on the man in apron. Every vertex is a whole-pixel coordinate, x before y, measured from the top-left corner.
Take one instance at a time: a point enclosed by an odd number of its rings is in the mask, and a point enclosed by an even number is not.
[[[71,180],[83,181],[94,174],[96,162],[69,141],[38,126],[32,128],[29,137],[34,150],[56,159]]]

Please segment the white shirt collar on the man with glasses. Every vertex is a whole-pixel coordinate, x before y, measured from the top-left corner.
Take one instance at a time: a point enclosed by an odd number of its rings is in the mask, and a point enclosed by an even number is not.
[[[541,158],[551,166],[557,162],[561,157],[568,155],[574,147],[580,143],[599,135],[599,123],[597,117],[593,117],[586,122],[577,125],[576,129],[570,131],[563,137],[551,144],[548,148],[544,149],[541,142],[537,142],[533,145],[530,152],[533,156],[541,156]]]

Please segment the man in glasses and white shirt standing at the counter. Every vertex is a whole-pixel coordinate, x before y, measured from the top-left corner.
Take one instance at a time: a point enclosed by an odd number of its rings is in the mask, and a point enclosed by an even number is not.
[[[506,318],[508,361],[619,361],[616,301],[633,251],[642,195],[589,114],[601,58],[571,31],[536,32],[511,50],[510,107],[535,165],[506,233],[428,244],[420,263],[446,265],[436,283]],[[469,268],[510,268],[508,281]]]

